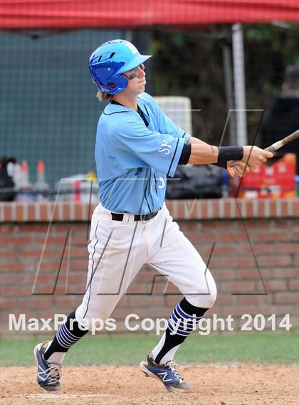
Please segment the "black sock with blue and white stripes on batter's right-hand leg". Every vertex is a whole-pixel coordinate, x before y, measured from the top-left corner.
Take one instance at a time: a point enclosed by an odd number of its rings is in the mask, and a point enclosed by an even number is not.
[[[194,327],[194,322],[199,322],[200,318],[208,308],[194,307],[186,298],[174,307],[172,314],[169,317],[167,330],[164,332],[162,340],[157,347],[154,348],[156,355],[154,362],[161,362],[162,358],[174,347],[182,344],[186,337],[190,335]],[[189,319],[189,321],[188,321]],[[174,331],[177,331],[174,333]]]

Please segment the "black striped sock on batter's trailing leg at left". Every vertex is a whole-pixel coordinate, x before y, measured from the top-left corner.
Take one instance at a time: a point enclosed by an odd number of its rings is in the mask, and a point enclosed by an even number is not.
[[[72,320],[72,324],[70,323]],[[84,335],[88,333],[88,330],[80,330],[78,322],[75,320],[75,310],[70,312],[68,319],[59,328],[56,336],[53,338],[49,347],[47,347],[46,352],[43,357],[48,360],[51,354],[55,352],[67,352],[68,349],[77,343]]]

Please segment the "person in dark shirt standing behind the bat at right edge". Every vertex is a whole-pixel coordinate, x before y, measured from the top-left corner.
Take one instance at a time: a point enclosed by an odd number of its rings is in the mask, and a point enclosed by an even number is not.
[[[266,110],[261,123],[261,147],[264,149],[299,128],[299,65],[285,69],[282,91]],[[295,153],[299,174],[299,140],[282,147],[277,157]]]

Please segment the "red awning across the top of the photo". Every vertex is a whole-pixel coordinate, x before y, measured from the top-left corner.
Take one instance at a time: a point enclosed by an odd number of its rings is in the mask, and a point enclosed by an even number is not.
[[[1,0],[0,28],[299,21],[299,0]]]

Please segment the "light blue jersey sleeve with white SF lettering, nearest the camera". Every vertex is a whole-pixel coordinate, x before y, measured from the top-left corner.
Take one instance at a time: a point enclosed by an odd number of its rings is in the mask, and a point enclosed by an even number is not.
[[[116,149],[131,152],[148,166],[173,177],[185,141],[183,137],[148,130],[141,120],[132,117],[115,127],[112,142]]]

